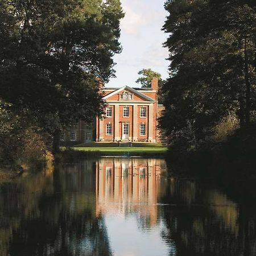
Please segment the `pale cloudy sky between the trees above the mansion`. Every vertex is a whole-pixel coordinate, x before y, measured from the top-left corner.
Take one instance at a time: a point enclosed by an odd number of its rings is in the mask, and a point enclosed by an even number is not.
[[[115,78],[106,87],[141,87],[138,72],[151,68],[168,77],[168,49],[162,44],[168,34],[161,30],[166,16],[165,0],[121,0],[125,18],[121,20],[119,42],[122,52],[114,56]]]

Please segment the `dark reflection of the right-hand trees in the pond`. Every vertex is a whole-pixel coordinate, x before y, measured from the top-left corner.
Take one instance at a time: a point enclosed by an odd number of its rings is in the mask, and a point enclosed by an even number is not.
[[[255,255],[254,209],[238,208],[209,184],[186,180],[168,181],[160,201],[171,204],[162,208],[168,227],[163,238],[174,241],[175,255]]]

